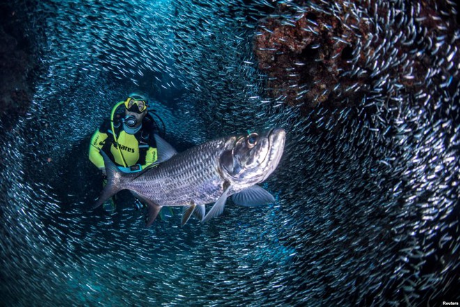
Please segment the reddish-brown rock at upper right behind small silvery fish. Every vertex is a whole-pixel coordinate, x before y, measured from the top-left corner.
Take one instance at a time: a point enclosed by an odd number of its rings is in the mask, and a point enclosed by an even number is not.
[[[440,98],[438,86],[457,90],[460,45],[450,1],[294,3],[260,20],[254,38],[271,97],[311,110],[376,96],[424,103]]]

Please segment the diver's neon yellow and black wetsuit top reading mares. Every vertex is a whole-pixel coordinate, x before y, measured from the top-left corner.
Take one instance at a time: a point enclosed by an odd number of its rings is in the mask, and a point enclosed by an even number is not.
[[[137,131],[123,128],[123,123],[117,119],[114,120],[114,130],[118,144],[114,140],[109,120],[104,121],[91,138],[89,160],[100,170],[104,169],[100,149],[125,172],[143,170],[157,160],[153,134],[158,133],[158,127],[150,114],[146,114],[141,128]]]

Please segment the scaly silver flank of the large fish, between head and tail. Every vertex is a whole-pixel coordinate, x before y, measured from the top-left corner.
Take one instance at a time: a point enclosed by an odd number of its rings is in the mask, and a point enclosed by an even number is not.
[[[223,193],[218,158],[224,145],[225,140],[220,139],[178,153],[131,181],[127,188],[160,206],[213,202]]]

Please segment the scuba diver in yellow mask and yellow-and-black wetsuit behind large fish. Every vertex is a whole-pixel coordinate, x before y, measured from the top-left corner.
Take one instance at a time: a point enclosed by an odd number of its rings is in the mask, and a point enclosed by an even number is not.
[[[153,117],[162,123],[161,129]],[[104,160],[100,154],[102,149],[122,172],[140,172],[157,160],[153,135],[156,133],[164,137],[164,132],[164,122],[154,111],[149,112],[146,97],[131,93],[113,107],[110,119],[105,120],[91,137],[89,160],[105,177]],[[107,178],[104,178],[103,185],[106,184]],[[146,205],[136,198],[135,209],[144,207]],[[105,202],[104,209],[114,213],[115,196]]]

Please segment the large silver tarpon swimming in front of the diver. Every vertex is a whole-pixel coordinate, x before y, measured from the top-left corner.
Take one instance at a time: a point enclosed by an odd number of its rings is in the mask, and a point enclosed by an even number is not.
[[[139,173],[123,173],[102,153],[107,186],[94,208],[123,189],[148,204],[146,226],[163,206],[183,206],[182,225],[194,213],[202,223],[219,216],[227,197],[253,207],[274,202],[273,196],[256,184],[275,170],[284,150],[286,133],[274,128],[261,134],[222,137],[177,153],[155,135],[158,161]],[[206,214],[205,204],[215,202]]]

